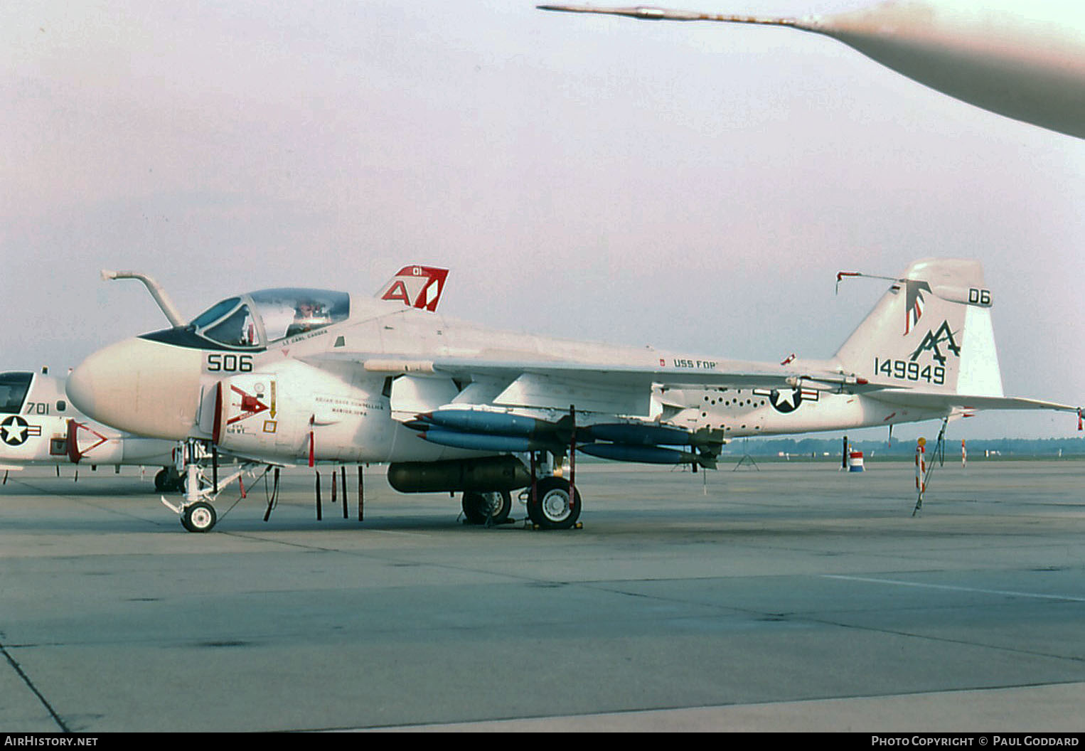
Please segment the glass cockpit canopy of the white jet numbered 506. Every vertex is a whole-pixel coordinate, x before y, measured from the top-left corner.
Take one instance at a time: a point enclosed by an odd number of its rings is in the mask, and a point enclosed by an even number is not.
[[[257,349],[349,315],[345,292],[284,287],[228,297],[193,318],[189,329],[218,344]]]

